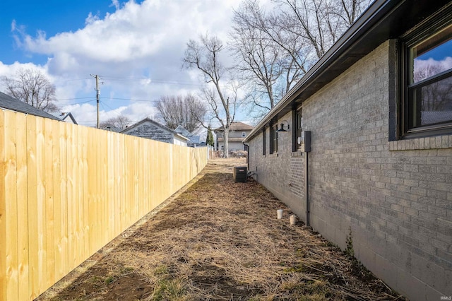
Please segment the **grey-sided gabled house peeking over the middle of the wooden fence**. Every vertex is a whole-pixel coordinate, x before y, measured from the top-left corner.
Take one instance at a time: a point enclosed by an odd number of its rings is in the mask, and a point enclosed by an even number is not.
[[[137,122],[136,124],[123,129],[121,133],[177,144],[179,146],[186,146],[187,141],[189,141],[189,138],[186,138],[185,136],[182,136],[172,129],[169,129],[149,118],[145,118],[141,120],[141,122]]]

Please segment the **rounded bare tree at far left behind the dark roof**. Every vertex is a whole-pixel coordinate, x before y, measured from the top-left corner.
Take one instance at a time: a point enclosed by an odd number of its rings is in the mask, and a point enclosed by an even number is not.
[[[20,69],[14,78],[3,76],[1,81],[13,98],[28,103],[40,110],[54,112],[55,86],[36,69]]]

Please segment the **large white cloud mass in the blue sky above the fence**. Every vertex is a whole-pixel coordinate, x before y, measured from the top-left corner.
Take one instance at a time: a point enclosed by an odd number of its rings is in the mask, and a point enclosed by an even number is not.
[[[232,7],[241,1],[145,0],[120,5],[112,0],[114,13],[89,13],[85,27],[74,32],[47,37],[39,31],[32,36],[15,21],[11,29],[18,47],[49,57],[44,66],[37,67],[57,86],[59,105],[71,110],[77,120],[93,125],[95,101],[67,105],[78,102],[77,98],[83,98],[79,102],[90,100],[86,98],[90,96],[95,100],[95,81],[90,74],[103,77],[102,97],[113,93],[116,98],[157,100],[161,95],[196,93],[198,74],[181,69],[186,42],[207,32],[226,40]],[[4,65],[0,61],[0,76],[13,74],[19,66],[32,65]],[[117,103],[107,99],[103,100],[111,106]],[[104,115],[120,112],[138,121],[155,115],[154,103],[121,103],[126,108],[105,111]]]

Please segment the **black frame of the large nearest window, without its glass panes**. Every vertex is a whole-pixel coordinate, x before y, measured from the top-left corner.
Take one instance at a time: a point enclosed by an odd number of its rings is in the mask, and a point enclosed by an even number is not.
[[[418,138],[424,136],[437,136],[452,133],[452,120],[425,126],[413,126],[415,122],[413,116],[420,114],[420,109],[416,110],[413,91],[420,89],[432,83],[437,83],[446,78],[452,77],[452,69],[441,72],[434,76],[425,78],[416,83],[410,83],[412,77],[412,56],[411,49],[420,42],[433,37],[436,33],[452,25],[450,19],[452,8],[447,12],[441,12],[441,16],[435,16],[418,25],[415,30],[410,30],[406,35],[400,37],[398,42],[399,49],[399,101],[398,101],[398,138]],[[434,47],[432,47],[434,49]]]

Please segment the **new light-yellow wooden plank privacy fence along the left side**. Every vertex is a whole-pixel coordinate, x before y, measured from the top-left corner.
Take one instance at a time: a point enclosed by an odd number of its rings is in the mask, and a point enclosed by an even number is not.
[[[0,110],[0,300],[34,299],[206,163],[206,148]]]

